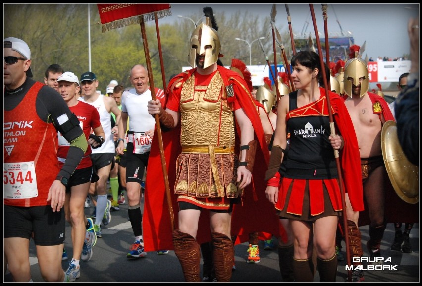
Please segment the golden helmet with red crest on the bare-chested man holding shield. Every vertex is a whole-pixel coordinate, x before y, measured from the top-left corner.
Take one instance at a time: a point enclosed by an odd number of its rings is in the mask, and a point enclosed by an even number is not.
[[[369,88],[369,75],[367,63],[364,60],[356,57],[357,52],[355,52],[355,58],[349,59],[344,66],[344,92],[350,97],[352,97],[352,84],[358,86],[359,79],[361,78],[363,79],[360,83],[361,93],[359,96],[362,97],[368,91]]]

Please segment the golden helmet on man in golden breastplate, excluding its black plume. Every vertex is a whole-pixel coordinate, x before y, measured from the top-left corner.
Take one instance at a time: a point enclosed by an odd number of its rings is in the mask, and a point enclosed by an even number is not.
[[[208,17],[206,17],[206,23],[209,23]],[[196,54],[205,54],[204,68],[216,63],[220,55],[221,44],[217,31],[206,23],[201,23],[196,27],[191,36],[188,62],[192,67],[196,67]]]

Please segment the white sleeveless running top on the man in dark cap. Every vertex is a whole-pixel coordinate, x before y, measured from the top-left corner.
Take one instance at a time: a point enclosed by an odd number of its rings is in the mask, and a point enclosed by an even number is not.
[[[86,102],[83,97],[79,98],[80,101]],[[106,138],[104,143],[100,148],[92,149],[92,154],[101,154],[101,153],[114,153],[114,141],[113,136],[111,136],[111,114],[106,110],[106,105],[104,104],[103,95],[100,95],[94,102],[86,102],[93,107],[95,107],[100,114],[101,126],[103,126],[104,133]]]

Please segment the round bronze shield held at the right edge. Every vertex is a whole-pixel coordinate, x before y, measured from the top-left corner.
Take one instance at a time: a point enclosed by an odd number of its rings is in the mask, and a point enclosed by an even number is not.
[[[396,122],[385,122],[381,131],[382,157],[397,195],[407,203],[419,201],[418,166],[406,158],[397,137]]]

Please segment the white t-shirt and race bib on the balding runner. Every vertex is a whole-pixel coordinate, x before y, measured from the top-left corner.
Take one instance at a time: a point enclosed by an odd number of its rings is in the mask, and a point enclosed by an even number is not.
[[[122,111],[129,117],[129,131],[145,132],[154,128],[155,119],[148,113],[147,105],[151,98],[148,89],[143,94],[137,94],[133,88],[122,95]],[[151,138],[145,134],[129,134],[128,142],[134,143],[134,153],[145,153],[151,148]]]

